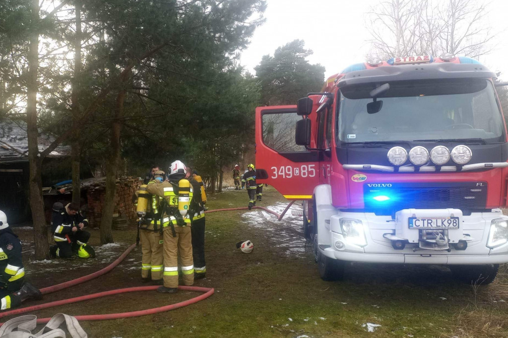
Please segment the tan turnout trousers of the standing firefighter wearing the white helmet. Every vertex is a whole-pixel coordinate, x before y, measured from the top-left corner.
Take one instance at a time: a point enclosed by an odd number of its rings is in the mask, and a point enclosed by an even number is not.
[[[175,226],[173,237],[171,226],[163,230],[164,234],[164,286],[178,287],[178,254],[180,254],[183,284],[194,284],[194,264],[192,258],[192,234],[190,226]]]

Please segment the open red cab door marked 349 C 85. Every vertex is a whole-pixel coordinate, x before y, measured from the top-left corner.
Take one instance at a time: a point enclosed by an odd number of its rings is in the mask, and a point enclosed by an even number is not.
[[[301,119],[297,106],[256,108],[256,181],[295,200],[311,199],[319,182],[319,152],[295,141]]]

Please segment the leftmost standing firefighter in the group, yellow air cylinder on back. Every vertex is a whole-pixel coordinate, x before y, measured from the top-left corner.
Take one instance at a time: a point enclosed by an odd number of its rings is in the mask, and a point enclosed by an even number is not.
[[[153,179],[163,182],[166,174],[163,171],[156,171]],[[160,284],[162,282],[163,263],[163,236],[160,209],[163,198],[152,195],[146,191],[146,185],[140,186],[138,191],[137,214],[138,238],[141,240],[141,279],[143,283],[149,282]]]

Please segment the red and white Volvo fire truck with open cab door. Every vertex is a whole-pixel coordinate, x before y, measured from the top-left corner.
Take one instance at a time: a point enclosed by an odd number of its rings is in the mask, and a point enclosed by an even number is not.
[[[354,64],[296,106],[256,110],[259,182],[304,201],[324,280],[349,262],[508,262],[508,143],[496,75],[460,56]],[[296,130],[296,132],[295,132]]]

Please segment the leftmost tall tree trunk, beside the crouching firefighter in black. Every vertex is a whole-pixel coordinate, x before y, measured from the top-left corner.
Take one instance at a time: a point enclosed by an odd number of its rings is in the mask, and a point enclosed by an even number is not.
[[[39,1],[32,0],[31,5],[32,30],[30,32],[30,44],[28,47],[28,82],[26,85],[26,133],[28,136],[28,163],[30,189],[30,208],[34,224],[35,258],[45,259],[49,255],[48,230],[44,215],[44,202],[42,198],[42,158],[39,154],[37,129],[37,82],[39,71]]]

